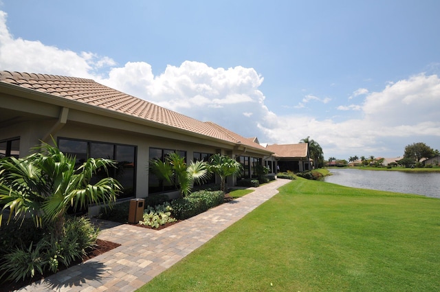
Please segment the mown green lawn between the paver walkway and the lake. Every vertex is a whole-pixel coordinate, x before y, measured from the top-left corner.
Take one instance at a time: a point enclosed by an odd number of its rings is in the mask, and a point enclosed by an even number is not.
[[[138,291],[440,291],[439,210],[298,178]]]

